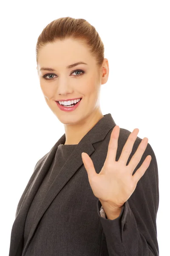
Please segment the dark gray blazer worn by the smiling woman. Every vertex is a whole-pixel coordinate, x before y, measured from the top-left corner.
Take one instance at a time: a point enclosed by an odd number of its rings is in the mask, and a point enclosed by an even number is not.
[[[28,181],[26,189],[17,206],[16,218],[11,230],[9,256],[25,256],[28,245],[34,245],[34,236],[43,215],[57,199],[60,207],[56,208],[58,223],[67,223],[57,227],[59,241],[55,256],[158,256],[156,215],[159,207],[159,179],[156,157],[150,144],[144,151],[142,159],[133,174],[141,166],[148,154],[152,156],[150,166],[137,183],[136,189],[125,202],[118,218],[109,220],[100,215],[101,203],[92,192],[87,171],[82,162],[81,153],[86,152],[92,159],[97,173],[104,165],[111,132],[116,123],[110,113],[104,115],[94,127],[77,144],[74,155],[70,155],[52,186],[48,189],[43,203],[34,218],[28,240],[23,248],[24,224],[31,201],[34,198],[43,178],[49,170],[56,154],[58,145],[65,143],[65,134],[57,141],[51,150],[36,164],[34,172]],[[120,128],[116,160],[119,160],[130,131]],[[137,137],[131,157],[141,142]],[[70,196],[71,195],[71,196]],[[68,212],[59,212],[67,207]],[[69,221],[68,221],[69,218]],[[71,232],[74,227],[74,233]],[[69,232],[68,232],[69,231]],[[30,256],[53,256],[49,241],[40,241],[42,250],[48,253],[31,254]],[[43,249],[44,248],[44,249]]]

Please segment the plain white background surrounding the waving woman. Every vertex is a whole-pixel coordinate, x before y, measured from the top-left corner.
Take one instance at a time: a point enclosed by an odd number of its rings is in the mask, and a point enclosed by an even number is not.
[[[0,255],[8,256],[19,199],[37,161],[64,134],[45,102],[35,46],[59,17],[84,18],[99,33],[109,61],[102,113],[147,137],[159,168],[159,255],[169,252],[170,5],[169,1],[3,1],[0,9]]]

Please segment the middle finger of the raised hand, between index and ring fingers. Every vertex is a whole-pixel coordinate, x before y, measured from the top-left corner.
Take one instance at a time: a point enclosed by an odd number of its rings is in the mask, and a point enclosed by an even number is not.
[[[129,137],[128,137],[128,139],[127,139],[127,141],[126,141],[126,143],[125,143],[125,145],[122,149],[122,153],[121,153],[118,161],[123,162],[125,165],[126,165],[127,160],[130,156],[130,153],[132,152],[133,144],[136,140],[136,137],[137,137],[138,133],[139,133],[139,129],[135,128],[133,130],[133,132],[130,133],[130,135],[129,135]]]

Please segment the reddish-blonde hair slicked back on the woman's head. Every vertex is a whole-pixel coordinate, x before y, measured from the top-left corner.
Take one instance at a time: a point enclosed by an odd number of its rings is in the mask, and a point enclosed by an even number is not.
[[[94,28],[87,20],[72,17],[61,17],[49,23],[38,37],[36,45],[36,61],[38,64],[39,49],[47,43],[53,43],[57,39],[73,38],[81,40],[87,45],[92,56],[96,58],[98,67],[104,60],[104,44]]]

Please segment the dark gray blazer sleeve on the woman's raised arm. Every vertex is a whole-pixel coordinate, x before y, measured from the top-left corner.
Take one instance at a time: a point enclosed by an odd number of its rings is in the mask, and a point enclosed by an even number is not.
[[[134,153],[135,147],[130,156],[132,157]],[[150,165],[138,181],[133,194],[123,205],[118,218],[114,220],[103,218],[100,215],[101,202],[97,201],[97,212],[102,223],[109,256],[159,256],[156,230],[159,177],[156,156],[149,143],[133,174],[147,155],[152,157]]]

